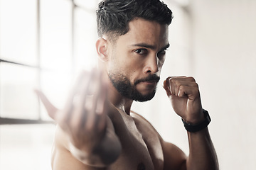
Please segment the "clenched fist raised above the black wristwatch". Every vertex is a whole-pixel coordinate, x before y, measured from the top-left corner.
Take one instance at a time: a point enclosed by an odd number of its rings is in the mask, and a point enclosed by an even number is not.
[[[193,77],[168,77],[164,89],[174,111],[188,123],[204,119],[198,84]]]

